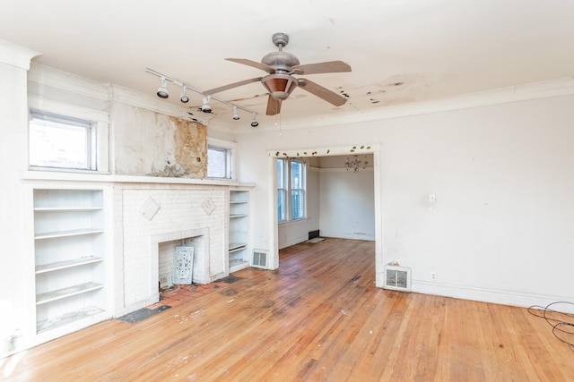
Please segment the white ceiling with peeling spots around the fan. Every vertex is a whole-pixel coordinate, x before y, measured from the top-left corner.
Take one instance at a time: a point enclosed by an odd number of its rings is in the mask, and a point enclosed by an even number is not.
[[[149,67],[200,90],[265,75],[226,57],[259,62],[284,50],[301,64],[342,60],[352,72],[309,79],[348,95],[334,107],[295,89],[282,119],[361,112],[574,75],[571,0],[0,0],[0,38],[34,61],[147,94]],[[171,85],[166,102],[179,102]],[[216,95],[265,117],[259,82]],[[190,94],[193,113],[201,97]],[[230,108],[213,105],[215,117]],[[242,119],[250,115],[242,115]]]

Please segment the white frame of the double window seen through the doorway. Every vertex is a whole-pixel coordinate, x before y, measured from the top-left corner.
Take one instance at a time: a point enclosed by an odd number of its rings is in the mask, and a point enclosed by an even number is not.
[[[279,174],[279,163],[283,163],[283,187],[280,187],[280,174]],[[301,165],[301,175],[300,175],[300,188],[293,187],[293,178],[291,173],[291,164],[300,163]],[[302,158],[277,158],[277,166],[275,166],[275,172],[277,173],[277,222],[278,224],[285,224],[290,222],[298,222],[307,219],[307,161]],[[292,191],[300,191],[302,193],[302,216],[293,217],[292,207],[293,207],[293,193]],[[279,208],[281,206],[280,195],[283,194],[283,215],[282,219],[279,213]]]

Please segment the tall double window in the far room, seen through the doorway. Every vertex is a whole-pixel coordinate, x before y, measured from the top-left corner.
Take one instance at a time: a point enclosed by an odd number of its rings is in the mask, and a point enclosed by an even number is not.
[[[307,165],[299,159],[277,159],[277,219],[279,222],[305,218],[305,174]]]

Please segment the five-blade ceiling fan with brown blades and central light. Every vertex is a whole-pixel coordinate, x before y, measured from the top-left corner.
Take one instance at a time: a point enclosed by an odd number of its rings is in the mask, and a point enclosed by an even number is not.
[[[269,74],[265,77],[256,77],[244,81],[230,83],[219,88],[205,90],[205,96],[210,96],[223,90],[237,88],[252,82],[261,81],[269,96],[267,98],[266,115],[277,115],[281,112],[281,103],[287,99],[291,92],[300,87],[309,93],[322,98],[334,106],[342,106],[347,101],[332,90],[326,89],[316,82],[303,78],[295,78],[293,74],[317,74],[332,72],[351,72],[351,66],[343,61],[326,61],[316,64],[300,64],[299,59],[291,53],[284,52],[283,47],[289,43],[289,36],[285,33],[275,33],[272,37],[275,47],[279,50],[265,55],[261,63],[247,58],[226,58],[234,63],[245,64],[261,69]]]

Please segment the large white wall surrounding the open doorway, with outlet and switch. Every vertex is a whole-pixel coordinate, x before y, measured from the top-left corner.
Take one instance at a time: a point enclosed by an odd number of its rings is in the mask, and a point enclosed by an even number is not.
[[[259,190],[254,246],[276,250],[270,152],[378,143],[378,273],[396,260],[413,268],[414,291],[524,306],[572,301],[572,105],[567,95],[283,129],[281,140],[274,131],[240,135],[239,177]]]

